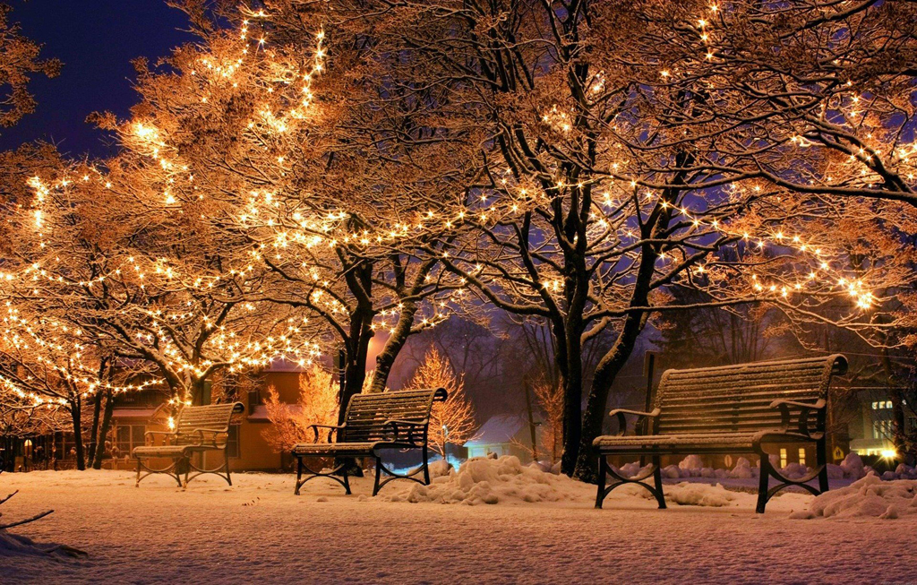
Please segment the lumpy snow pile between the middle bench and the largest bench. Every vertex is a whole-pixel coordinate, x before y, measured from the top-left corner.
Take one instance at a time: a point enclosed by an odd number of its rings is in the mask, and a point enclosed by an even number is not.
[[[565,475],[543,471],[536,465],[524,466],[519,458],[472,458],[458,472],[450,470],[428,485],[414,483],[380,498],[388,502],[436,502],[476,505],[497,502],[582,501],[594,497],[594,486],[571,480]]]

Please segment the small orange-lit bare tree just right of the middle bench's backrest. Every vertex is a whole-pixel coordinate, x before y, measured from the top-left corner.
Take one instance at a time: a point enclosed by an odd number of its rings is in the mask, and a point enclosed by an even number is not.
[[[444,402],[434,403],[427,431],[430,446],[446,458],[448,443],[464,445],[476,436],[478,424],[474,406],[465,395],[465,379],[456,374],[446,356],[431,348],[424,362],[414,370],[414,376],[405,390],[444,388],[448,396]]]

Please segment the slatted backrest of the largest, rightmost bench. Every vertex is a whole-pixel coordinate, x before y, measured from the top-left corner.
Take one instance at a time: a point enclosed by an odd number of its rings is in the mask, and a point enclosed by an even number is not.
[[[810,359],[667,370],[656,392],[661,410],[654,424],[657,435],[695,433],[754,433],[779,428],[777,400],[814,403],[827,400],[834,375],[844,375],[847,360],[833,355]],[[790,408],[793,420],[799,408]]]

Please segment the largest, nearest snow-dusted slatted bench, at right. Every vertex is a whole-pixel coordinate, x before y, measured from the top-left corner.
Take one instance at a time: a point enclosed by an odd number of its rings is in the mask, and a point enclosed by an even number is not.
[[[656,497],[659,508],[665,508],[659,469],[662,455],[756,453],[761,459],[758,513],[764,513],[774,494],[792,485],[816,495],[827,491],[824,424],[828,389],[832,377],[844,375],[846,369],[844,356],[833,355],[666,371],[652,412],[615,409],[611,414],[618,419],[618,434],[593,441],[599,455],[595,507],[601,508],[614,488],[638,483]],[[626,435],[627,414],[637,417],[635,430],[642,435]],[[816,465],[798,480],[774,469],[764,450],[768,444],[804,443],[814,443]],[[651,458],[651,463],[635,476],[624,477],[608,464],[609,455],[639,455]],[[608,475],[616,481],[605,487]],[[651,475],[654,485],[643,481]],[[771,476],[779,483],[768,489]],[[818,489],[808,484],[816,478]]]

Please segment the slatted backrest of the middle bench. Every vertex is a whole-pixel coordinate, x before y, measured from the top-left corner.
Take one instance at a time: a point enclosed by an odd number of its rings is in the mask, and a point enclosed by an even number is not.
[[[446,400],[442,388],[401,390],[355,394],[344,415],[344,432],[339,442],[381,441],[392,436],[392,426],[386,422],[409,421],[426,424],[434,400]],[[426,429],[423,429],[426,436]]]

